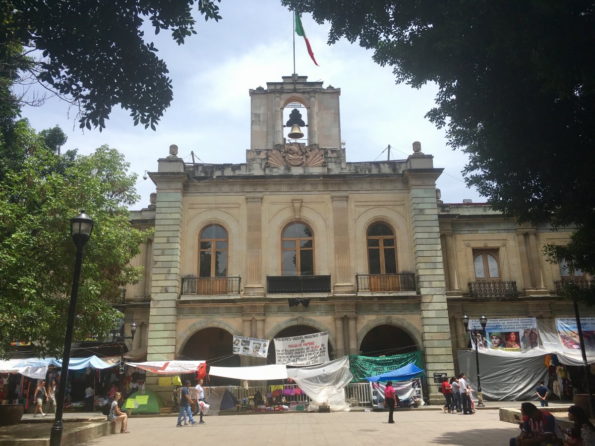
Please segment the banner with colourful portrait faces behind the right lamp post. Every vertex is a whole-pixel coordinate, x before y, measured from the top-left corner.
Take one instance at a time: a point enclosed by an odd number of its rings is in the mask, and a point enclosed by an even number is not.
[[[505,351],[528,351],[539,345],[536,318],[488,319],[486,329],[479,319],[469,319],[471,347]]]

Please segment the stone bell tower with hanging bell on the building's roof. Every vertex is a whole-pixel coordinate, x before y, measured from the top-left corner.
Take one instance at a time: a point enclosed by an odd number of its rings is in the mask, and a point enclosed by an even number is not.
[[[340,149],[340,94],[341,89],[323,88],[322,81],[308,82],[308,76],[297,74],[283,76],[281,82],[267,82],[266,90],[250,89],[250,150],[280,150],[287,139],[300,140],[311,149]],[[286,134],[283,112],[288,107],[291,118],[287,124],[291,130]],[[307,124],[302,118],[306,118]],[[305,125],[301,126],[302,123]],[[304,133],[307,140],[301,140]]]

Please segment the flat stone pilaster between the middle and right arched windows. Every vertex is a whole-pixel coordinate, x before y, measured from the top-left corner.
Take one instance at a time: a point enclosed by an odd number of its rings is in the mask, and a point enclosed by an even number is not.
[[[347,219],[347,194],[331,194],[333,200],[333,232],[335,248],[334,294],[354,294],[350,278],[349,220]]]

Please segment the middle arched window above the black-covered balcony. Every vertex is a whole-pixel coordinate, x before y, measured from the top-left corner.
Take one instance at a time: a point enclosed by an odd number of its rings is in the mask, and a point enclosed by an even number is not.
[[[314,236],[309,227],[292,223],[283,231],[281,239],[283,275],[314,275]]]

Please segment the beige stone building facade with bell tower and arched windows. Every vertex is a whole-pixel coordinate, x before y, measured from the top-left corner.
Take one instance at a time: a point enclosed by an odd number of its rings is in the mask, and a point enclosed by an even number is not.
[[[339,97],[283,77],[250,90],[245,163],[187,164],[175,145],[159,159],[151,205],[131,213],[155,228],[134,260],[145,276],[126,290],[126,322],[140,326],[134,346],[148,360],[262,365],[232,355],[231,337],[329,331],[331,358],[422,350],[428,376],[452,375],[468,342],[463,313],[570,314],[555,293],[560,269],[541,255],[569,233],[442,203],[442,169],[418,142],[406,160],[346,162]],[[292,123],[307,136],[288,138]],[[295,297],[308,306],[289,306]]]

